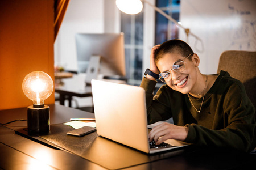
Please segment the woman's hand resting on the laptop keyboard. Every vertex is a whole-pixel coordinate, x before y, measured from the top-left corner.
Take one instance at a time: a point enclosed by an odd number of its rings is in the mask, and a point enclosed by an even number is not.
[[[184,126],[177,126],[164,122],[155,126],[149,133],[149,140],[156,142],[156,145],[166,141],[167,139],[176,139],[184,141],[188,136],[188,128]]]

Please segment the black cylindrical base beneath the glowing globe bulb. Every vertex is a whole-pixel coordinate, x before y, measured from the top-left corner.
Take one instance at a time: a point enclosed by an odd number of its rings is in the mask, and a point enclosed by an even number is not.
[[[49,132],[49,106],[35,108],[27,107],[27,129],[29,134],[44,134]]]

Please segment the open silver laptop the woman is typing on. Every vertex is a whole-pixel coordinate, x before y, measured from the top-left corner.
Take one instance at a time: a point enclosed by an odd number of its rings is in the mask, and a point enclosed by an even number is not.
[[[161,147],[150,145],[142,87],[93,79],[92,94],[98,135],[149,154],[189,145],[174,139]]]

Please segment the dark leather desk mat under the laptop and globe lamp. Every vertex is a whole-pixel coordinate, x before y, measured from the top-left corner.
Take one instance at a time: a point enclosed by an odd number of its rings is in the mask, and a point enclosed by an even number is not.
[[[56,147],[79,155],[107,169],[132,167],[134,165],[180,155],[185,151],[185,149],[177,149],[169,152],[160,152],[158,154],[146,154],[104,137],[100,137],[96,132],[83,137],[76,137],[66,134],[68,131],[74,130],[71,126],[54,124],[50,126],[50,129],[47,135],[28,135],[27,131],[24,129],[17,130],[16,134],[23,135],[43,145]]]

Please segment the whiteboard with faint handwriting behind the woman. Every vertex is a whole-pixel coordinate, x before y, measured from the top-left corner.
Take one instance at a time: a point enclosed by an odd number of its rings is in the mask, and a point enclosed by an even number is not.
[[[200,37],[187,36],[179,29],[200,57],[203,74],[217,73],[218,60],[225,50],[256,51],[255,0],[181,0],[180,22]]]

